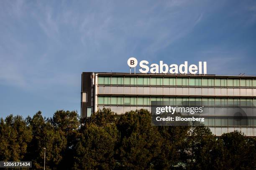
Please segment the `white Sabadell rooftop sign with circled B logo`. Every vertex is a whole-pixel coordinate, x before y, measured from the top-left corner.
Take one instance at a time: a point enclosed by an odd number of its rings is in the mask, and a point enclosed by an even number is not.
[[[131,57],[128,59],[127,64],[129,67],[136,67],[138,65],[138,61],[136,58]],[[159,61],[159,64],[149,64],[147,60],[142,60],[139,63],[141,67],[139,71],[141,73],[171,73],[171,74],[207,74],[207,63],[206,61],[199,61],[198,65],[192,64],[188,65],[187,61],[184,64],[177,65],[171,64],[167,65],[163,61]]]

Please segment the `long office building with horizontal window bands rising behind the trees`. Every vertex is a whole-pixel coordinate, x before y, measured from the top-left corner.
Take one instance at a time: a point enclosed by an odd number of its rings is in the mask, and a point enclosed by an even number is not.
[[[239,130],[256,136],[256,76],[82,72],[81,117],[103,107],[117,114],[141,108],[151,111],[152,101],[175,106],[198,102],[213,108],[204,122],[213,134]],[[236,107],[242,108],[246,122],[223,118],[224,107],[233,115]]]

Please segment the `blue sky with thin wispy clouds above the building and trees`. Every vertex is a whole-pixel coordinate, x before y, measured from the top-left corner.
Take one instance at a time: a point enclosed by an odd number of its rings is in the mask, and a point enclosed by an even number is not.
[[[256,1],[0,1],[0,117],[80,112],[81,72],[127,59],[256,75]]]

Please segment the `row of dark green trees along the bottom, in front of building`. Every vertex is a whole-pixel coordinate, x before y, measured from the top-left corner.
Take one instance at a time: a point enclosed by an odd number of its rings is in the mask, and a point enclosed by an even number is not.
[[[203,126],[152,126],[147,110],[0,119],[0,160],[32,161],[32,169],[44,168],[46,148],[47,170],[248,170],[255,169],[255,144],[237,131],[216,138]]]

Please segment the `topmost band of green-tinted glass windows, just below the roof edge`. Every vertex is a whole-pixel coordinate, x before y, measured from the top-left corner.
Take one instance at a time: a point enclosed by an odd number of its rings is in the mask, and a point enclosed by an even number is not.
[[[256,87],[256,79],[210,78],[210,77],[117,77],[99,76],[99,85],[168,85],[168,86],[215,86],[215,87]]]

